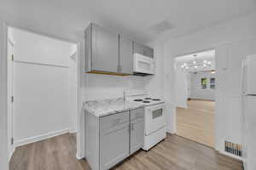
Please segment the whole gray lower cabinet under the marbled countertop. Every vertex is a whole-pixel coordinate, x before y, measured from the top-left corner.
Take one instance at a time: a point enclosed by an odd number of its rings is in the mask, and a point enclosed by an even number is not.
[[[144,108],[85,116],[85,156],[92,170],[107,170],[143,147]]]

